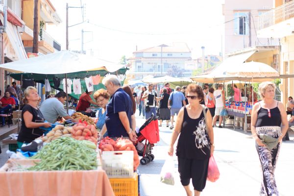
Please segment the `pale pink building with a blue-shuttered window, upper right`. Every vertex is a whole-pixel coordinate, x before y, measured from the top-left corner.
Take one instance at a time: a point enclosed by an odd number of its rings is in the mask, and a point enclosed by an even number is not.
[[[222,5],[224,16],[224,53],[253,47],[275,46],[278,40],[272,37],[259,38],[258,16],[269,11],[272,0],[225,0]]]

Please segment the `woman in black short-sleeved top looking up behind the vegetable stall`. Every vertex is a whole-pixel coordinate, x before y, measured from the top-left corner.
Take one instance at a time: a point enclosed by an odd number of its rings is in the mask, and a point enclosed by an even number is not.
[[[37,89],[32,86],[27,87],[24,93],[25,105],[22,111],[22,128],[17,138],[18,148],[21,148],[24,143],[28,144],[42,136],[41,126],[46,128],[51,126],[50,123],[44,123],[45,118],[37,107],[38,101]]]

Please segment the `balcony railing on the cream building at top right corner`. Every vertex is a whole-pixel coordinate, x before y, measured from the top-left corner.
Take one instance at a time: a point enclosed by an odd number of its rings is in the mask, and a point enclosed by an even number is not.
[[[294,1],[285,3],[259,16],[259,29],[276,25],[294,17]]]

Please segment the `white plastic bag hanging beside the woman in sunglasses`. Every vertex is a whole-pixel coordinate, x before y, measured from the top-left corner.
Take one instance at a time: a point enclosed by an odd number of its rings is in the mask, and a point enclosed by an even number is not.
[[[167,158],[161,169],[160,181],[165,184],[174,185],[174,162],[172,156]]]

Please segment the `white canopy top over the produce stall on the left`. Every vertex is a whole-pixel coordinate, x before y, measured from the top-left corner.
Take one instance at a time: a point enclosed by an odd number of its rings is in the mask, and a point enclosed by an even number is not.
[[[12,73],[41,74],[64,74],[100,69],[105,69],[108,72],[115,72],[122,67],[124,67],[124,65],[68,50],[0,65],[0,68]]]

